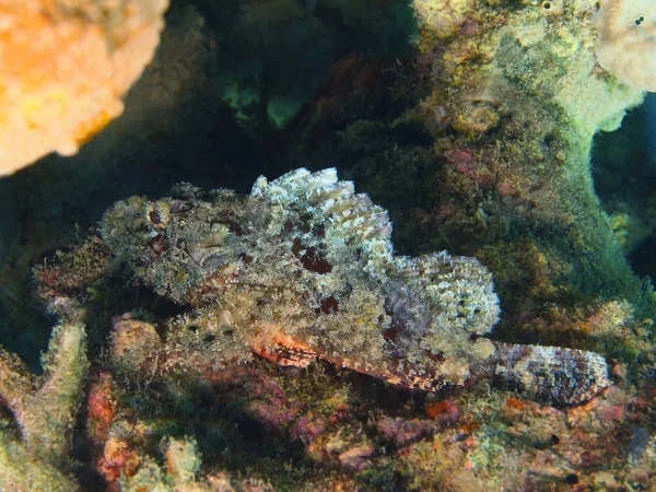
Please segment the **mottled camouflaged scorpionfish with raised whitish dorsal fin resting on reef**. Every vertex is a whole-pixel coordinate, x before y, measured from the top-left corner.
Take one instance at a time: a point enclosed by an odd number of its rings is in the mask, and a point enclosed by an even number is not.
[[[118,202],[102,223],[145,285],[189,306],[169,341],[199,331],[216,352],[320,358],[430,391],[497,379],[578,403],[610,385],[596,353],[484,338],[500,313],[490,272],[445,251],[395,256],[390,233],[387,212],[333,168],[260,177],[245,197],[181,184],[169,198]]]

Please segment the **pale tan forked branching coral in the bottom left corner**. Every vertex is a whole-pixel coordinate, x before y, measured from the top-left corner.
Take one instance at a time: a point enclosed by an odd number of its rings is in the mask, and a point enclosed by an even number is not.
[[[35,377],[10,353],[0,353],[0,398],[17,432],[0,432],[0,488],[12,491],[77,490],[69,461],[75,410],[86,375],[84,327],[55,327],[44,375]]]

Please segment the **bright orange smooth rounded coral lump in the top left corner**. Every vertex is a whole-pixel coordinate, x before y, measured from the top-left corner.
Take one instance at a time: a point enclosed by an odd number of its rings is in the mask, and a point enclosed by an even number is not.
[[[167,0],[3,1],[0,176],[71,155],[122,113],[150,62]]]

